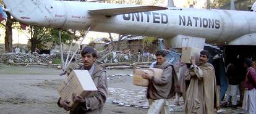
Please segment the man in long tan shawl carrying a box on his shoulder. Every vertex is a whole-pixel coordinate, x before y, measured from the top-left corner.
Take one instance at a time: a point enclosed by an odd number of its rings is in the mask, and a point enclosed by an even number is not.
[[[186,76],[186,80],[190,80],[186,92],[186,114],[213,114],[214,108],[220,107],[215,70],[213,65],[207,62],[209,57],[208,51],[201,51],[198,66],[192,57],[192,69],[189,76]]]

